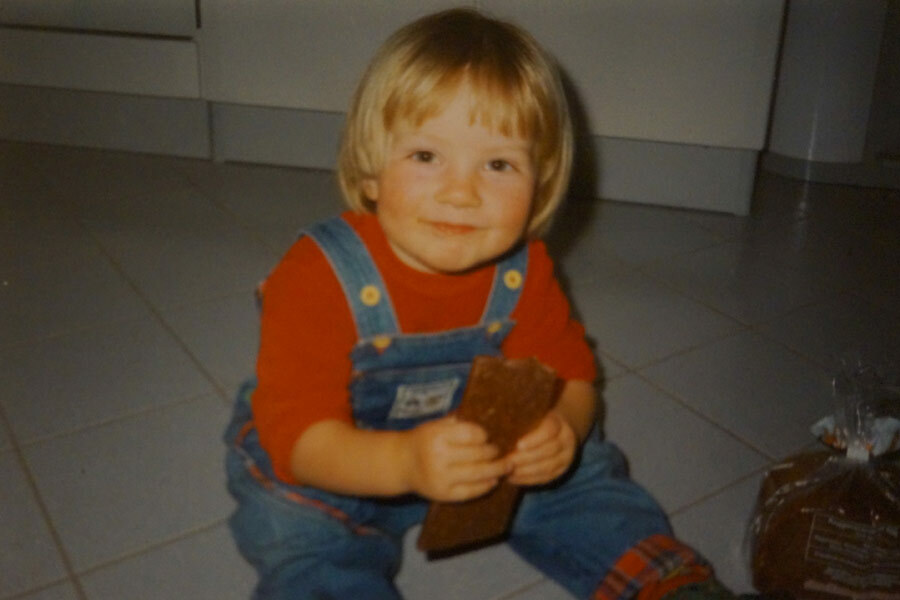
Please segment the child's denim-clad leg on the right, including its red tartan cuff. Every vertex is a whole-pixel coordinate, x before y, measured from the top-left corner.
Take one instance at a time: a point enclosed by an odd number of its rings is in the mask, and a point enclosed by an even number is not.
[[[568,479],[525,495],[509,543],[578,598],[636,598],[662,592],[663,581],[677,586],[711,575],[628,479],[618,449],[593,439]]]

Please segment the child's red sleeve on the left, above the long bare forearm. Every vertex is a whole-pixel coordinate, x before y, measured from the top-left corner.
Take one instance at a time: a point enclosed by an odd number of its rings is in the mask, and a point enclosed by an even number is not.
[[[311,424],[352,422],[347,383],[356,341],[341,285],[312,238],[301,238],[266,279],[253,420],[275,474],[294,481],[290,455]]]

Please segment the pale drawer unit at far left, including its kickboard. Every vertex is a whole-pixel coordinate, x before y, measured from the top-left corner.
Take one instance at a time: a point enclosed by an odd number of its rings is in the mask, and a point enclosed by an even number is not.
[[[195,0],[0,0],[0,138],[208,157]]]

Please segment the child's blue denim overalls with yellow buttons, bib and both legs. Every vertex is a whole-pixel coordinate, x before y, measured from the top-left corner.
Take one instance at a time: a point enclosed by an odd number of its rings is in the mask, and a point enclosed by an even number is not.
[[[399,331],[387,289],[363,242],[342,219],[306,232],[331,263],[353,313],[353,417],[358,427],[409,429],[452,411],[471,360],[500,353],[527,274],[527,248],[497,264],[481,322],[432,334]],[[238,394],[226,432],[228,485],[238,501],[230,525],[256,567],[259,599],[399,598],[393,577],[403,534],[424,518],[416,496],[358,498],[276,480],[251,422],[254,383]],[[509,544],[526,560],[587,598],[615,561],[639,541],[668,534],[662,510],[626,475],[618,450],[597,435],[576,469],[525,494]]]

